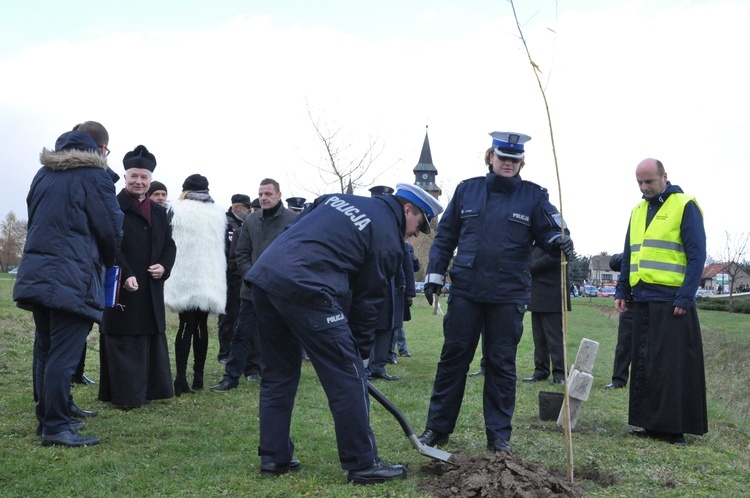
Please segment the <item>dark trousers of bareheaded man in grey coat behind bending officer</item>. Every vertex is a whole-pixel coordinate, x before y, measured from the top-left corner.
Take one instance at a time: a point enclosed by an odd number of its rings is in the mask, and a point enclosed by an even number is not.
[[[236,386],[240,377],[260,373],[260,344],[255,309],[250,299],[240,299],[240,311],[229,348],[229,361],[224,368],[224,380]]]

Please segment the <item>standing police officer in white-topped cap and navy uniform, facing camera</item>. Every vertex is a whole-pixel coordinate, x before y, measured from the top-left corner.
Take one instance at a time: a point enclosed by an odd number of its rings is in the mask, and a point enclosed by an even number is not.
[[[430,248],[425,297],[432,304],[450,270],[451,292],[443,320],[445,342],[420,441],[445,444],[461,409],[466,373],[484,330],[484,422],[487,449],[510,452],[516,401],[516,348],[529,302],[530,249],[572,254],[561,232],[560,214],[546,189],[521,180],[524,143],[520,133],[493,132],[484,177],[459,184]],[[565,231],[567,234],[567,230]]]

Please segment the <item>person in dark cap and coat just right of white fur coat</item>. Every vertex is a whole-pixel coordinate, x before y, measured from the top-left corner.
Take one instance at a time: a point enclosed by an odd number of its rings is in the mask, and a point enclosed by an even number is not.
[[[240,289],[242,288],[242,277],[237,274],[237,267],[229,257],[232,240],[239,237],[240,227],[245,221],[252,202],[245,194],[234,194],[232,205],[227,209],[227,229],[224,238],[224,254],[227,259],[227,309],[226,313],[219,315],[219,354],[221,363],[229,361],[229,349],[234,336],[234,327],[237,323],[237,313],[240,310]]]

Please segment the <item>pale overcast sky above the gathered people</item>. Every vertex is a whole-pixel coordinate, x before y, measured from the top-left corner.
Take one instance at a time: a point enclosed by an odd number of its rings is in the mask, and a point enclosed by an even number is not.
[[[0,0],[0,215],[26,217],[42,147],[85,120],[109,130],[119,173],[124,154],[146,145],[171,199],[201,173],[224,207],[234,193],[256,197],[265,177],[311,200],[333,187],[312,166],[323,149],[309,109],[340,130],[349,157],[378,140],[375,184],[414,181],[429,125],[446,202],[486,172],[490,131],[531,135],[521,175],[549,189],[579,254],[622,250],[646,157],[696,196],[710,254],[726,231],[750,230],[750,2],[516,9],[542,70],[560,189],[544,101],[504,0]]]

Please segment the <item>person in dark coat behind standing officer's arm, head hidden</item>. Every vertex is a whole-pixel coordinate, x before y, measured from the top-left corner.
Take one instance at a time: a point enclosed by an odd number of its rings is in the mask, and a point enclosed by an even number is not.
[[[524,382],[547,380],[552,365],[552,384],[565,383],[562,331],[562,278],[560,255],[531,250],[531,332],[534,336],[534,374]],[[567,296],[566,296],[567,297]],[[565,299],[570,311],[570,299]]]

